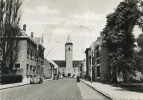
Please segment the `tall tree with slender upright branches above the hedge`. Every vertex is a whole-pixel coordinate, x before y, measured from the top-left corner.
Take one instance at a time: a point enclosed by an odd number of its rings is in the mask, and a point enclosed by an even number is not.
[[[18,54],[20,35],[20,0],[0,0],[0,47],[3,51],[2,73],[11,73]]]

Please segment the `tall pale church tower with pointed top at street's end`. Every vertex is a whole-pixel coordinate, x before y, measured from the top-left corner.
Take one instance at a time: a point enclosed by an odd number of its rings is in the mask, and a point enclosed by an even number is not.
[[[66,76],[73,75],[73,43],[68,36],[65,44]]]

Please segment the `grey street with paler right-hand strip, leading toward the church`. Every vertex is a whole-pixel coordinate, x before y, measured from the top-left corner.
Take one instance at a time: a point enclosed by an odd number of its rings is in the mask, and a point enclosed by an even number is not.
[[[80,90],[79,90],[79,89]],[[97,98],[96,98],[97,97]],[[2,99],[107,99],[75,79],[51,80],[2,90]]]

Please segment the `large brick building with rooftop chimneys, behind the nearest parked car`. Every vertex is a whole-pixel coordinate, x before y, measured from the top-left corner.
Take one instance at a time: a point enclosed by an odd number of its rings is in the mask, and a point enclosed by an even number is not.
[[[17,37],[19,50],[16,63],[19,63],[20,66],[16,70],[18,72],[20,69],[23,81],[26,81],[30,79],[31,75],[43,73],[45,48],[39,37],[34,38],[34,33],[31,33],[31,37],[27,36],[26,26],[23,29],[23,35]]]

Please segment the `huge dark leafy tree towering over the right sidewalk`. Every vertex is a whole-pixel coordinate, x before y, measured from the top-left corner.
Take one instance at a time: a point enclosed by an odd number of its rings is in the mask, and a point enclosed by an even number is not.
[[[124,0],[107,16],[107,24],[102,31],[107,42],[109,66],[112,69],[112,81],[117,82],[117,72],[131,72],[134,66],[134,35],[133,28],[139,24],[143,15],[138,4],[140,0]],[[126,78],[124,78],[126,81]]]

